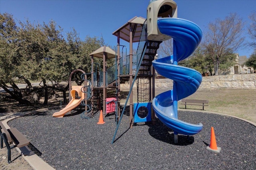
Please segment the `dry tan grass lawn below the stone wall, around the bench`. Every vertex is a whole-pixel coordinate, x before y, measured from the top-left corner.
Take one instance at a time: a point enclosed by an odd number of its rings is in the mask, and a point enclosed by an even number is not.
[[[168,88],[156,88],[156,95]],[[129,89],[121,89],[124,94],[128,94]],[[133,101],[136,102],[136,89],[133,89]],[[122,94],[122,93],[121,93]],[[208,100],[205,111],[213,111],[233,115],[256,123],[256,89],[233,89],[233,88],[199,88],[194,94],[186,99]],[[126,98],[121,97],[121,103],[125,103]],[[129,101],[128,101],[129,104]],[[185,106],[178,102],[178,108]],[[187,106],[187,109],[202,109],[202,106]]]

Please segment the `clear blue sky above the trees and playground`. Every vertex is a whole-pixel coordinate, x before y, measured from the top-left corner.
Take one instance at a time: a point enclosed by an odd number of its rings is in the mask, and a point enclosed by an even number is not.
[[[175,0],[178,18],[190,20],[204,31],[208,23],[216,18],[224,19],[230,12],[236,12],[244,21],[256,10],[256,0]],[[146,18],[149,0],[0,0],[0,13],[12,14],[18,21],[48,23],[56,21],[64,33],[76,29],[82,40],[103,37],[105,43],[115,46],[116,36],[112,33],[134,16]],[[244,27],[246,28],[246,25]],[[247,33],[247,31],[246,31]],[[249,40],[249,39],[247,39]],[[127,45],[120,41],[121,45]],[[249,57],[250,48],[236,51]]]

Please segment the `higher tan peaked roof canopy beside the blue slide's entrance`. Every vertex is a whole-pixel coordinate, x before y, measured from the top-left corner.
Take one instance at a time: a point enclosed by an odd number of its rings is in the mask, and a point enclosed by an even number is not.
[[[118,36],[118,31],[120,31],[120,38],[129,42],[130,41],[130,23],[135,23],[136,29],[134,30],[135,32],[133,33],[133,43],[134,42],[139,42],[140,41],[140,34],[142,31],[142,25],[145,22],[145,18],[142,17],[137,17],[135,16],[134,18],[130,19],[126,24],[124,24],[122,27],[118,28],[116,31],[114,31],[112,34]]]

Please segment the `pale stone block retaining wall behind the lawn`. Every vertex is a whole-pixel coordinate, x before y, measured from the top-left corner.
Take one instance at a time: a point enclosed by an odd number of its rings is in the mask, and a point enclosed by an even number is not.
[[[156,79],[157,88],[171,88],[172,80]],[[134,84],[136,87],[136,84]],[[121,88],[129,88],[129,84],[121,84]],[[203,77],[199,88],[256,88],[256,74],[235,74],[226,76]]]

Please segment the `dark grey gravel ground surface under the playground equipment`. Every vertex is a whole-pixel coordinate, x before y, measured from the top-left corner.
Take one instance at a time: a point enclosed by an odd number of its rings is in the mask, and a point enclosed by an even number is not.
[[[100,112],[82,119],[80,112],[52,117],[56,110],[34,112],[8,122],[30,140],[37,154],[54,169],[255,169],[256,126],[246,121],[203,111],[179,110],[179,119],[204,125],[193,136],[178,135],[156,119],[156,124],[138,123],[129,129],[128,107],[116,139],[116,123]],[[27,126],[30,128],[27,128]],[[207,150],[214,127],[220,153]],[[29,156],[28,156],[29,159]],[[36,162],[34,162],[36,163]]]

